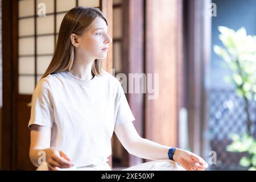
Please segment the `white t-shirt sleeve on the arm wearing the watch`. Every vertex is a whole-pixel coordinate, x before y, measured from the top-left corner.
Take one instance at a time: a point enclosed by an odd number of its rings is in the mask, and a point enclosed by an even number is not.
[[[117,117],[115,119],[115,127],[134,120],[135,118],[125,97],[125,92],[123,92],[123,88],[118,81]]]

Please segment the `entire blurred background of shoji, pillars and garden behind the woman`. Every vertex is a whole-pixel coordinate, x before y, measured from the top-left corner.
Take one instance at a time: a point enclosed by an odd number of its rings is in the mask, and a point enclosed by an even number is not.
[[[113,76],[137,73],[127,81],[147,85],[143,74],[158,74],[154,100],[148,89],[126,93],[141,137],[195,152],[208,170],[256,169],[255,0],[0,2],[1,169],[35,169],[27,104],[51,61],[61,20],[76,6],[106,15],[113,44],[104,68]],[[115,135],[112,146],[113,169],[148,161],[128,154]]]

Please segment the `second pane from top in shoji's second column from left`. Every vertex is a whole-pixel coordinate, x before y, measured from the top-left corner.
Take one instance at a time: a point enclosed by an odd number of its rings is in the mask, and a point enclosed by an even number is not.
[[[36,18],[36,33],[54,34],[54,15],[47,15]]]

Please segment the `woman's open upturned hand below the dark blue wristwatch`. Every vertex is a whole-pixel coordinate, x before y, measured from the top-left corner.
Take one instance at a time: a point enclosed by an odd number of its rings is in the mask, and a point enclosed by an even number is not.
[[[204,171],[208,167],[208,164],[200,156],[180,148],[176,148],[173,158],[187,171]]]

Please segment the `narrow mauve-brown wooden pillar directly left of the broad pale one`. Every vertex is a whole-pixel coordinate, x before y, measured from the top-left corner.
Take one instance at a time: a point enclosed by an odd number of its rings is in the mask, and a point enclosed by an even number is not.
[[[123,1],[123,53],[122,70],[128,77],[129,73],[144,73],[144,1],[125,0]],[[129,81],[130,78],[129,78]],[[129,89],[127,89],[129,90]],[[136,119],[134,126],[141,137],[143,134],[144,119],[144,94],[126,94],[131,111]],[[128,166],[135,166],[142,163],[141,158],[125,154],[129,160]],[[124,163],[123,163],[124,164]]]

